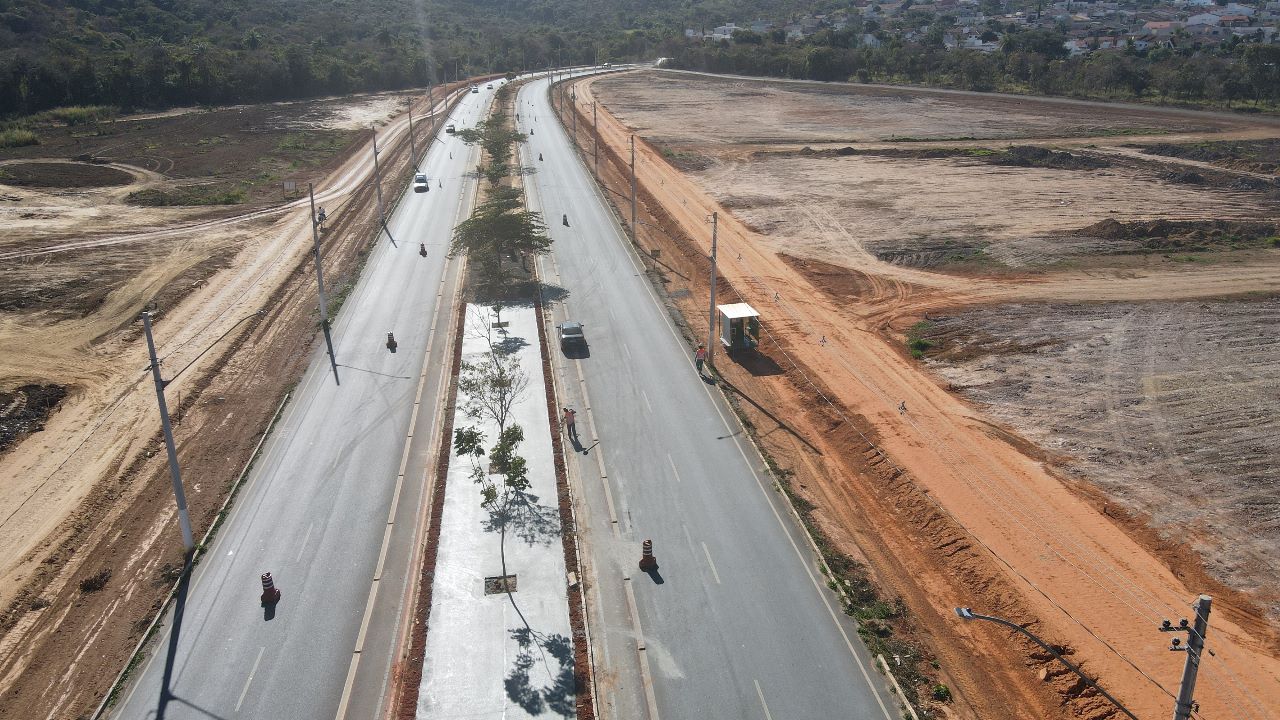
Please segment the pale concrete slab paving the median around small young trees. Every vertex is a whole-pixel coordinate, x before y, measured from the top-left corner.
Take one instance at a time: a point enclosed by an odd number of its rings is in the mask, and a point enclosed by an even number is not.
[[[573,715],[568,580],[536,318],[531,307],[503,307],[502,331],[489,327],[494,319],[490,307],[467,307],[462,359],[483,361],[492,343],[515,354],[529,375],[512,418],[525,430],[518,452],[531,487],[512,503],[503,542],[503,523],[480,505],[470,461],[449,460],[417,720]],[[460,391],[453,427],[480,429],[489,448],[498,427],[467,416],[467,400]],[[485,578],[502,574],[503,550],[516,592],[486,596]]]

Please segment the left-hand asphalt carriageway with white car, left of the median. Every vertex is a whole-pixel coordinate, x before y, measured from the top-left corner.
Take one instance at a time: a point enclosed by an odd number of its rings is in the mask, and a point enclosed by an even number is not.
[[[492,96],[467,94],[452,120],[475,124]],[[335,323],[342,384],[321,347],[196,568],[178,618],[165,620],[111,716],[315,720],[340,717],[342,706],[346,716],[372,717],[384,702],[438,434],[443,306],[454,281],[444,255],[453,225],[470,211],[475,181],[466,174],[479,152],[440,137],[421,164],[431,190],[407,191],[388,223],[394,242],[381,236]],[[389,331],[394,354],[384,345]],[[259,605],[264,571],[283,592],[274,614]]]

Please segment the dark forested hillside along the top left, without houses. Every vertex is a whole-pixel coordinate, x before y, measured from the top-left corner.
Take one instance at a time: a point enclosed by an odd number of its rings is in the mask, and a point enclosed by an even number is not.
[[[686,24],[799,0],[0,0],[0,115],[421,87],[672,54]]]

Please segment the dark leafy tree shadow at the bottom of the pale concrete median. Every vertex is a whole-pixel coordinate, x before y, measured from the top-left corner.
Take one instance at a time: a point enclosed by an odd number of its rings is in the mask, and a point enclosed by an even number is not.
[[[573,643],[558,633],[536,633],[529,625],[512,628],[511,638],[520,646],[520,652],[503,682],[507,697],[530,715],[549,712],[573,717],[577,712],[573,694]],[[530,670],[539,662],[550,680],[534,687]]]

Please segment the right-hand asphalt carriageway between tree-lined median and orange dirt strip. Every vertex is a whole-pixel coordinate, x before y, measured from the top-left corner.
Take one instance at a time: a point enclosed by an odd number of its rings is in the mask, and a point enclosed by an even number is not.
[[[520,94],[521,127],[534,129],[522,154],[531,208],[554,240],[543,268],[563,295],[556,319],[585,323],[589,342],[556,363],[588,450],[570,473],[595,578],[600,716],[897,717],[763,460],[696,375],[692,347],[570,149],[547,85]],[[646,538],[653,574],[636,566]]]

